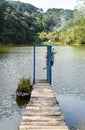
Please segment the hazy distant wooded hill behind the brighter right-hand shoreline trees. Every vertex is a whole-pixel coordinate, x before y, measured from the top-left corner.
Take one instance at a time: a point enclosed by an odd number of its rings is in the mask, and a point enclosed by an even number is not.
[[[73,11],[68,9],[48,9],[44,14],[48,30],[61,30],[67,22],[73,17]]]

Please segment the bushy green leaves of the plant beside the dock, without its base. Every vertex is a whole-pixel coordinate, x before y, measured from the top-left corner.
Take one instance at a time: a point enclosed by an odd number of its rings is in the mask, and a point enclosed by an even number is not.
[[[30,79],[22,78],[18,84],[17,92],[30,92],[31,91],[31,82]]]

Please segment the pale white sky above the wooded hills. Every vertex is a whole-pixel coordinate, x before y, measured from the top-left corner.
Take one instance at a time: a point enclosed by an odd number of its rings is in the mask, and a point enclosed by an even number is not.
[[[20,0],[24,3],[32,4],[46,11],[48,8],[74,9],[76,0]]]

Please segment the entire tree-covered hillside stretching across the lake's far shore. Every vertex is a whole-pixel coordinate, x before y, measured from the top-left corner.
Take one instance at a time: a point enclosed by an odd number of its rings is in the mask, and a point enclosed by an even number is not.
[[[48,9],[0,0],[0,44],[85,44],[85,2],[74,10]]]

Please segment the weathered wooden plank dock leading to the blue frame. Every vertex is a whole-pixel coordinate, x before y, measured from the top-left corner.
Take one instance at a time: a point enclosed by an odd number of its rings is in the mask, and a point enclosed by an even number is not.
[[[34,85],[19,130],[69,130],[50,84]]]

